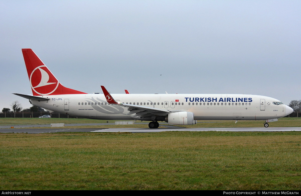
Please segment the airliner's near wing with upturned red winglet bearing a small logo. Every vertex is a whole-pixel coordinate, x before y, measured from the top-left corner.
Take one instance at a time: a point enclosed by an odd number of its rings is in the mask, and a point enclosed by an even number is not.
[[[127,115],[132,115],[134,118],[151,118],[151,116],[165,116],[166,114],[172,112],[172,110],[167,109],[159,109],[159,108],[151,108],[146,106],[138,106],[132,104],[118,103],[114,100],[114,98],[110,95],[107,89],[104,86],[101,86],[102,91],[104,92],[104,96],[106,100],[110,104],[122,106],[128,108],[130,111]]]

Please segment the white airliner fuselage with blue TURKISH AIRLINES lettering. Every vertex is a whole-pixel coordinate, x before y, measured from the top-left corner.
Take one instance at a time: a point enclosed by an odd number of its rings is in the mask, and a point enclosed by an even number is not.
[[[194,120],[267,120],[286,115],[284,104],[271,97],[245,94],[112,94],[116,102],[194,113]],[[42,108],[103,120],[135,119],[128,108],[107,103],[104,94],[46,95],[31,103]]]

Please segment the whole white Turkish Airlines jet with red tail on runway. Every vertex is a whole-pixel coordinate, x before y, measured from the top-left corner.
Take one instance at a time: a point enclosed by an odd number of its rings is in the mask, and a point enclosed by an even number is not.
[[[293,109],[268,96],[248,94],[88,94],[64,87],[32,49],[22,49],[33,95],[13,93],[35,106],[80,118],[158,121],[172,125],[196,124],[197,120],[265,120],[289,115]]]

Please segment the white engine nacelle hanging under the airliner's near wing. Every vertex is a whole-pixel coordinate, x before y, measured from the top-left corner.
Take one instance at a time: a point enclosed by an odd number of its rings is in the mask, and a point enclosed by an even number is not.
[[[186,125],[197,123],[197,121],[194,120],[193,112],[172,112],[165,117],[165,121],[168,122],[168,124],[174,125]]]

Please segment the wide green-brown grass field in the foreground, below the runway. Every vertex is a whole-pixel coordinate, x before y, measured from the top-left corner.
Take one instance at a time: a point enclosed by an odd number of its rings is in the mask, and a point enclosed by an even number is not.
[[[2,190],[300,190],[300,132],[2,133]]]

